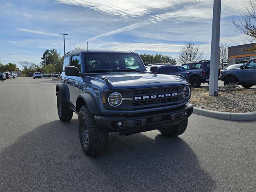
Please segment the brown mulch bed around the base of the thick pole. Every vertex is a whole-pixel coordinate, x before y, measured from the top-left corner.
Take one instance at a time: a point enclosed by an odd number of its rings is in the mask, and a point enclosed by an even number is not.
[[[252,112],[256,111],[256,91],[219,87],[218,96],[209,96],[208,87],[192,89],[190,103],[197,108],[220,112]]]

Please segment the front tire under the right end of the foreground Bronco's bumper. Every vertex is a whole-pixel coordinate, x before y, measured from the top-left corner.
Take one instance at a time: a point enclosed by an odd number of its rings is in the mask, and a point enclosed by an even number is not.
[[[186,131],[186,128],[188,126],[188,119],[181,121],[177,125],[173,125],[170,128],[161,128],[158,129],[161,134],[163,134],[166,137],[175,137],[178,135],[181,135]]]

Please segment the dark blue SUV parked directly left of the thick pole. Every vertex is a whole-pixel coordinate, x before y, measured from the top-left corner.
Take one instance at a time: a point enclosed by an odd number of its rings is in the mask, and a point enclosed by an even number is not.
[[[189,72],[188,82],[192,87],[200,87],[201,83],[209,83],[210,60],[186,62],[182,66]]]

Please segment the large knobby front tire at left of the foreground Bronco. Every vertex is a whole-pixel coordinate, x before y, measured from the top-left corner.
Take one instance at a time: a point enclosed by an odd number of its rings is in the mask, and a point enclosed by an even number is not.
[[[108,133],[98,128],[94,114],[86,105],[78,113],[78,134],[82,149],[88,156],[102,154],[108,147]]]

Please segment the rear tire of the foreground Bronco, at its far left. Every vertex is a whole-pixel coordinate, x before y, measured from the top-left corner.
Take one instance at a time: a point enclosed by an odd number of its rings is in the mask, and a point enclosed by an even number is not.
[[[58,115],[61,121],[68,122],[72,119],[73,111],[68,107],[68,104],[63,102],[60,92],[57,95]]]

